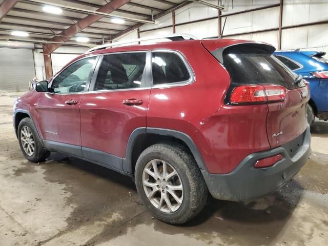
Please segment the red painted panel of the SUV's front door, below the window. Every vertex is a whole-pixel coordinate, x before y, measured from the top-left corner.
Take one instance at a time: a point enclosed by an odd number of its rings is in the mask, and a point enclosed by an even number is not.
[[[40,137],[65,144],[81,145],[79,104],[83,94],[38,94],[40,97],[36,110]],[[77,100],[78,103],[65,104],[65,101],[70,99]]]

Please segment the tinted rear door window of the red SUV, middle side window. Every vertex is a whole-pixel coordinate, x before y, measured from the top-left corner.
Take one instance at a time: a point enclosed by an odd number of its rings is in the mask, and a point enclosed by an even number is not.
[[[101,61],[94,90],[118,90],[144,87],[142,79],[146,53],[105,55]]]

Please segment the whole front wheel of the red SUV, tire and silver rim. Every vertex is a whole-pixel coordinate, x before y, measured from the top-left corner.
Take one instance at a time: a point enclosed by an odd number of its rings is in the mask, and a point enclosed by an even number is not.
[[[30,118],[24,118],[19,122],[17,136],[20,150],[29,161],[39,162],[49,157],[50,151],[43,147]]]

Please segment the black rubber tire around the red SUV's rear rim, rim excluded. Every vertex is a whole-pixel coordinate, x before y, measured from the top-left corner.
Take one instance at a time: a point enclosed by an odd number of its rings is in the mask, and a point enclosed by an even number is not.
[[[180,207],[165,213],[153,206],[142,185],[142,173],[151,160],[161,159],[169,163],[181,180],[183,199]],[[195,217],[204,207],[208,189],[193,156],[180,145],[155,144],[142,152],[135,167],[135,183],[142,203],[153,217],[170,224],[183,224]]]

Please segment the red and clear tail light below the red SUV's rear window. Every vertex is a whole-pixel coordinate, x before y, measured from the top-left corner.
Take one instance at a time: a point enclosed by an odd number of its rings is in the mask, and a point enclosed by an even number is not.
[[[230,96],[231,104],[266,104],[284,101],[286,88],[279,85],[244,85],[235,87]]]

